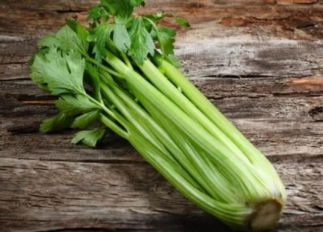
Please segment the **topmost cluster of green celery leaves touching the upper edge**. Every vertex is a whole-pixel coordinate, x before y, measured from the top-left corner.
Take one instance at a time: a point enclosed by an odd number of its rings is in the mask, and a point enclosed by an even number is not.
[[[171,13],[159,12],[155,15],[132,17],[135,7],[144,6],[144,0],[101,0],[101,4],[91,8],[88,20],[93,21],[88,41],[95,42],[93,52],[101,61],[106,43],[113,41],[120,52],[129,55],[134,62],[142,64],[147,55],[154,55],[155,42],[164,57],[174,55],[176,31],[160,27],[156,23],[165,17],[173,17],[176,22],[189,27],[189,23]],[[107,18],[113,17],[112,22]],[[169,59],[172,62],[172,59]]]

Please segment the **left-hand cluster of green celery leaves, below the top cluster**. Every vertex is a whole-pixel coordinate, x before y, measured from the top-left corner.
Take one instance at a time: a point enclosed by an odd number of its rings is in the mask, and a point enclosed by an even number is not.
[[[45,40],[47,39],[48,37]],[[40,131],[45,133],[68,127],[86,128],[99,119],[102,110],[98,94],[99,86],[95,83],[93,67],[85,63],[78,51],[57,50],[56,46],[60,44],[58,41],[55,45],[52,44],[46,53],[36,55],[31,67],[31,79],[40,86],[46,86],[46,90],[52,95],[59,95],[59,99],[54,103],[61,112],[43,121]],[[84,88],[84,74],[86,73],[91,73],[93,97]],[[93,132],[80,132],[76,135],[78,139],[72,142],[82,142],[87,146],[95,147],[104,133],[105,129],[101,128]]]

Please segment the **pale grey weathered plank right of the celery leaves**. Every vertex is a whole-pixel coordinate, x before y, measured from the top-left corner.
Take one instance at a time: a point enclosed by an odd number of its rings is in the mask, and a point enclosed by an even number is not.
[[[199,30],[196,30],[199,34]],[[200,33],[202,34],[202,32]],[[321,42],[254,39],[250,36],[204,38],[185,36],[177,55],[188,76],[304,77],[322,75]]]

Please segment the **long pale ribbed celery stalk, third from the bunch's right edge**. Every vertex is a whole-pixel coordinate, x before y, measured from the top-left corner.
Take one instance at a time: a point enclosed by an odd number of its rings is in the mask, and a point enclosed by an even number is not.
[[[115,55],[107,51],[106,61],[116,69],[123,73],[125,80],[130,88],[138,90],[142,95],[146,96],[154,107],[160,108],[160,111],[165,114],[165,117],[170,121],[174,121],[176,125],[197,143],[200,149],[208,154],[213,154],[213,162],[219,165],[223,171],[229,174],[233,183],[240,186],[246,200],[252,200],[259,196],[270,196],[271,190],[267,189],[266,183],[258,180],[257,172],[248,162],[237,162],[234,156],[231,156],[231,151],[223,146],[219,141],[201,129],[199,125],[188,117],[178,106],[172,103],[163,94],[157,91],[138,73],[130,70],[122,61]],[[217,155],[214,155],[217,154]],[[255,187],[257,183],[257,187]],[[259,188],[259,185],[262,188]]]

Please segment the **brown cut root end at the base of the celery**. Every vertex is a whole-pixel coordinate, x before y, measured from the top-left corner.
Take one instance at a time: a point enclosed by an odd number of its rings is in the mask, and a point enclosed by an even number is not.
[[[258,204],[250,218],[252,231],[264,231],[274,228],[282,215],[283,204],[278,198]]]

